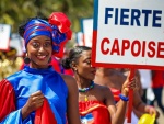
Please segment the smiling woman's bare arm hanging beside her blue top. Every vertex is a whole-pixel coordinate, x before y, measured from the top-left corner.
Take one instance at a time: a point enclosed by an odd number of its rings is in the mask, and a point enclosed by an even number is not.
[[[71,76],[62,75],[68,89],[68,101],[67,101],[67,117],[68,124],[81,124],[79,114],[79,92],[75,79]]]

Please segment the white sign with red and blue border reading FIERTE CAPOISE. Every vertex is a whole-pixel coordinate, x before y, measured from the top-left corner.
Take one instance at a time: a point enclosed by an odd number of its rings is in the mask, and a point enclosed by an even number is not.
[[[164,68],[164,0],[95,0],[93,65]]]

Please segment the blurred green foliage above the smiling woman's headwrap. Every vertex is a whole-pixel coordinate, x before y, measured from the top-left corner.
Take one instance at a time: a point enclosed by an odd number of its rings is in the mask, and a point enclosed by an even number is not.
[[[93,0],[0,0],[0,23],[11,24],[15,33],[26,18],[48,18],[55,11],[66,13],[78,32],[80,19],[93,16]]]

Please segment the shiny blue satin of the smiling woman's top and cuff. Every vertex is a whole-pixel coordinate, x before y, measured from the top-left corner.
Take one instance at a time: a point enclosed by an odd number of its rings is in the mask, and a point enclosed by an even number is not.
[[[35,112],[22,122],[20,109],[26,103],[28,97],[38,90],[47,98],[58,124],[66,124],[68,87],[51,66],[48,69],[34,69],[25,66],[24,70],[7,79],[14,88],[17,111],[9,114],[1,124],[5,124],[9,120],[12,120],[14,124],[33,124]],[[17,123],[15,123],[16,120],[19,120]]]

